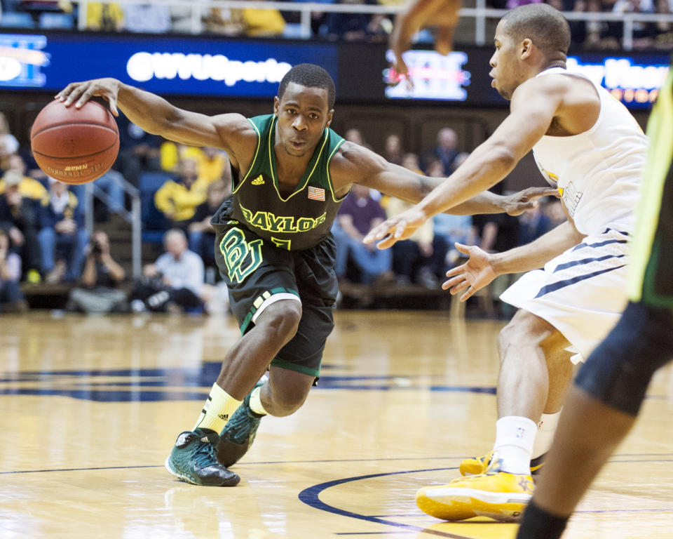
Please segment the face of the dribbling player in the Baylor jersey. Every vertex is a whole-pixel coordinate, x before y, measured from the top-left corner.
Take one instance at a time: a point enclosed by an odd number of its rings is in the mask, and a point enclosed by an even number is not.
[[[332,123],[333,110],[327,106],[327,88],[309,88],[291,82],[283,98],[273,102],[278,117],[276,142],[294,157],[312,154],[322,131]]]

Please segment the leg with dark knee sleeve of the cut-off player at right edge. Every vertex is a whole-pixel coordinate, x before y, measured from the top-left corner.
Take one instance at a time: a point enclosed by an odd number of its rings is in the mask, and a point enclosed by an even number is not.
[[[670,310],[631,303],[578,373],[519,538],[561,536],[578,501],[634,424],[653,373],[672,356]]]

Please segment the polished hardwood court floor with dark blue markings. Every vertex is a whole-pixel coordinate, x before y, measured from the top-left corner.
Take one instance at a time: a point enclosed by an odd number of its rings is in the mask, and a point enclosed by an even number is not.
[[[0,318],[0,537],[513,538],[414,503],[493,443],[501,321],[337,312],[304,408],[265,418],[234,488],[163,468],[226,350],[230,317]],[[673,538],[673,371],[564,537]]]

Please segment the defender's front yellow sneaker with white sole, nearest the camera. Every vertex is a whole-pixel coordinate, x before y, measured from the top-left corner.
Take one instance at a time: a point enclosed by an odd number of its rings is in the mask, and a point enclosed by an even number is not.
[[[497,457],[486,473],[460,477],[448,485],[426,486],[416,493],[416,505],[431,517],[465,520],[490,517],[502,522],[518,521],[535,486],[525,474],[500,471]]]

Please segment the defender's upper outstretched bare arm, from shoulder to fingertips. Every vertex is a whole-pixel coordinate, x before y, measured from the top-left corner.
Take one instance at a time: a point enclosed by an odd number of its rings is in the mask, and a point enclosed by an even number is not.
[[[542,77],[544,79],[544,77]],[[407,239],[424,220],[472,199],[501,181],[547,132],[563,92],[542,79],[530,79],[512,96],[510,115],[468,159],[414,208],[372,229],[365,241],[386,248]]]

